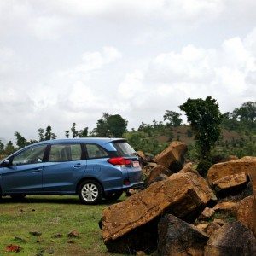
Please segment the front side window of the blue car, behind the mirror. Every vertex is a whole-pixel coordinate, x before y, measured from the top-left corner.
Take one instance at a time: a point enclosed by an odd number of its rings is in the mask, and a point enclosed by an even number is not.
[[[15,155],[13,158],[13,165],[21,166],[41,163],[44,158],[45,148],[46,145],[27,148],[26,150],[20,152],[20,154]]]

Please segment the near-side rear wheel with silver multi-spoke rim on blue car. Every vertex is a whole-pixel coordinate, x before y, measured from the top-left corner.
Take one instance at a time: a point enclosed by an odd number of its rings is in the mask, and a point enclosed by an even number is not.
[[[79,187],[79,199],[84,204],[95,205],[102,201],[103,190],[95,180],[86,180]]]

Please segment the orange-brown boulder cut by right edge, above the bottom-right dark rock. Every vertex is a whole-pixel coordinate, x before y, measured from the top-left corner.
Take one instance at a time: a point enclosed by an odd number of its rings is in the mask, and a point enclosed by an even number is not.
[[[236,203],[236,218],[253,231],[256,236],[256,199],[248,196]]]

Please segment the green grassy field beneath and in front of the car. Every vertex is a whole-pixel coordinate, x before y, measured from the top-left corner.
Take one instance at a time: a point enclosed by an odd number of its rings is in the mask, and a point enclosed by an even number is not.
[[[98,227],[105,207],[82,205],[77,196],[26,196],[22,201],[3,197],[0,255],[110,255]],[[79,237],[68,237],[72,230]],[[42,235],[32,236],[32,231]],[[20,246],[20,252],[7,252],[11,244]]]

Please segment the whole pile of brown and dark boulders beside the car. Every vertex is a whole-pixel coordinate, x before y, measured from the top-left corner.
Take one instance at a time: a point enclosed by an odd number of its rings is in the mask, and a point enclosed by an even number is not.
[[[185,152],[172,143],[144,166],[145,189],[102,211],[109,252],[256,255],[256,158],[218,163],[205,179],[183,166]]]

